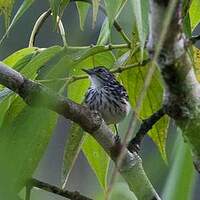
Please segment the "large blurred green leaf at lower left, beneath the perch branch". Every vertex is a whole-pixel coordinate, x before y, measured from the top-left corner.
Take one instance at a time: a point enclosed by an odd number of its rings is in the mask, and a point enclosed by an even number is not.
[[[19,97],[11,104],[0,129],[0,184],[8,192],[18,192],[32,177],[55,122],[55,113],[26,106]]]

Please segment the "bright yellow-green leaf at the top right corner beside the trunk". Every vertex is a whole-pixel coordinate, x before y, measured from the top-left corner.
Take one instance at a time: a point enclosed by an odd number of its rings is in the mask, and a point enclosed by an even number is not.
[[[199,8],[200,8],[200,1],[199,0],[192,0],[192,4],[191,4],[190,10],[189,10],[190,21],[191,21],[191,29],[192,30],[200,22]]]

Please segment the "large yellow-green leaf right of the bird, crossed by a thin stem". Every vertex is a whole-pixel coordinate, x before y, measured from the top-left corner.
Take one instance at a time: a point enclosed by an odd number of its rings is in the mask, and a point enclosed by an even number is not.
[[[127,58],[127,53],[125,53],[124,56],[126,56]],[[124,61],[126,62],[126,60]],[[130,64],[132,62],[137,62],[137,59],[130,57],[128,63]],[[147,66],[145,66],[143,68],[138,67],[130,69],[128,71],[124,71],[119,76],[119,78],[123,82],[123,85],[128,91],[129,101],[133,109],[136,106],[140,92],[143,89],[144,79],[147,73],[148,73],[148,68]],[[142,119],[148,118],[152,113],[160,109],[162,106],[162,100],[163,100],[162,81],[158,70],[156,70],[156,72],[153,75],[151,84],[147,90],[146,97],[142,102],[140,117]],[[165,143],[166,143],[168,122],[169,122],[168,117],[163,117],[156,123],[155,126],[153,126],[153,128],[149,132],[149,135],[157,144],[164,160],[166,160]]]

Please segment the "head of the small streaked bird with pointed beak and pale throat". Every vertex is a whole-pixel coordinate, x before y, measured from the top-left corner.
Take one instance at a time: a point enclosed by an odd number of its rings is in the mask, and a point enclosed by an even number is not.
[[[94,88],[101,88],[108,83],[116,82],[114,75],[103,66],[82,70],[89,75],[92,87]]]

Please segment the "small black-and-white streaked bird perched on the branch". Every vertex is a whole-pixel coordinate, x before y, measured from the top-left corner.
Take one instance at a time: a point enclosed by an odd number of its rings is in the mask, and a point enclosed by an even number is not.
[[[91,86],[85,96],[85,104],[97,110],[107,124],[117,124],[130,109],[128,95],[115,76],[105,67],[83,69],[90,78]]]

